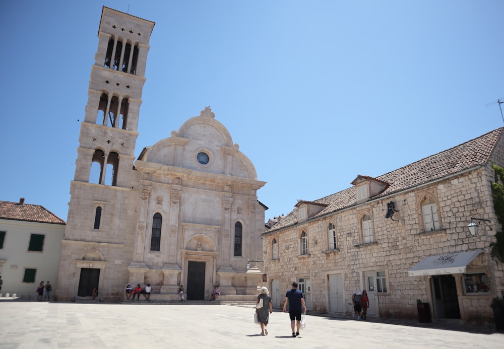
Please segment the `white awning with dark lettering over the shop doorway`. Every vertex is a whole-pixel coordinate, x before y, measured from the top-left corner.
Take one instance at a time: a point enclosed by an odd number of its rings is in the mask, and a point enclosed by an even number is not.
[[[409,276],[446,275],[466,272],[466,266],[482,250],[455,252],[423,258],[417,265],[408,270]]]

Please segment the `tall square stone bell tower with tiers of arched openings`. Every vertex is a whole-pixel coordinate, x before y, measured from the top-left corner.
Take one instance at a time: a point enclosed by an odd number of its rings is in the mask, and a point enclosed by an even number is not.
[[[56,295],[113,298],[133,251],[135,143],[154,22],[103,7]],[[133,230],[134,232],[134,230]]]

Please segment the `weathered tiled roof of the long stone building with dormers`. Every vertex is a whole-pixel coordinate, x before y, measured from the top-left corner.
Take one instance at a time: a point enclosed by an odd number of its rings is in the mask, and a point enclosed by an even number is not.
[[[487,163],[503,130],[502,127],[497,128],[471,139],[471,141],[374,178],[388,183],[390,186],[373,198],[387,196],[437,179],[449,177],[463,170]],[[316,216],[310,217],[309,220],[355,205],[355,187],[314,200],[314,202],[324,203],[328,206]],[[268,230],[268,233],[295,225],[298,220],[297,210],[296,207],[284,219]]]

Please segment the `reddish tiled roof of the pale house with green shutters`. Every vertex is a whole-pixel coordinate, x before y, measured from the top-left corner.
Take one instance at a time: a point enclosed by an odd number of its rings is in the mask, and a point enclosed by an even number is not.
[[[67,224],[52,212],[41,205],[32,205],[19,202],[0,201],[0,219],[40,222],[53,224]]]

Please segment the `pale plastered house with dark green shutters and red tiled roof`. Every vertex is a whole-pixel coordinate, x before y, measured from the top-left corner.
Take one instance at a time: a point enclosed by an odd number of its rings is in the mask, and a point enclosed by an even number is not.
[[[41,205],[0,201],[0,294],[30,299],[41,281],[56,285],[65,221]]]

